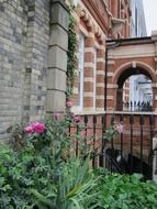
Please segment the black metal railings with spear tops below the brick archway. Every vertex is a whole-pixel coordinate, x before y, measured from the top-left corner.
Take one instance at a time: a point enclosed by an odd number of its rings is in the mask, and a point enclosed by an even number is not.
[[[112,135],[120,124],[123,129],[109,141],[106,133],[111,131]],[[90,153],[93,167],[103,166],[121,174],[141,173],[150,179],[154,124],[154,116],[148,114],[81,116],[80,123],[69,128],[70,135],[76,135],[71,152],[75,156],[81,154],[85,157]]]

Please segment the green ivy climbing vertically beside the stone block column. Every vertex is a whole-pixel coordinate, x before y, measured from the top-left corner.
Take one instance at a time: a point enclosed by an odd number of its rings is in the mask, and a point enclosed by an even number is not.
[[[70,99],[75,84],[75,68],[77,65],[77,35],[76,35],[76,20],[72,16],[72,9],[69,9],[69,29],[68,29],[68,64],[67,64],[67,90],[66,98]]]

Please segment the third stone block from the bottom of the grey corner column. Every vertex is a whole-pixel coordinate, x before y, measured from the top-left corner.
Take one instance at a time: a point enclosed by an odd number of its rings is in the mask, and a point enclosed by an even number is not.
[[[52,46],[48,54],[48,67],[67,70],[67,54],[58,46]]]

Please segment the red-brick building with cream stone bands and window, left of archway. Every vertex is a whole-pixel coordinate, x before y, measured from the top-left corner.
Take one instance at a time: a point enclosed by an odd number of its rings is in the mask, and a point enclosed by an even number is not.
[[[72,110],[78,113],[103,112],[106,40],[130,37],[131,2],[82,0],[74,15],[79,50]]]

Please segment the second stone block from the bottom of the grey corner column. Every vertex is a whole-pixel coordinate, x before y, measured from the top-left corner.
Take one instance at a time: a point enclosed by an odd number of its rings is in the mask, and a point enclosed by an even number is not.
[[[47,88],[48,89],[56,89],[56,90],[66,90],[66,74],[65,72],[51,68],[47,72]]]

